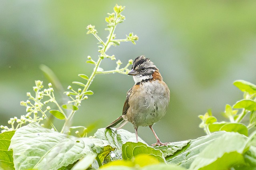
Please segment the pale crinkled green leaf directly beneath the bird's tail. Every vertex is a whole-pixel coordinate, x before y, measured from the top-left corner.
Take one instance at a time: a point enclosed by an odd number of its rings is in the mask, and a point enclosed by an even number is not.
[[[136,135],[135,133],[130,133],[124,129],[115,130],[101,128],[94,134],[96,139],[104,140],[109,143],[109,145],[115,148],[112,151],[111,160],[119,160],[122,159],[122,145],[126,142],[136,142]],[[139,141],[145,143],[140,137],[138,137]]]

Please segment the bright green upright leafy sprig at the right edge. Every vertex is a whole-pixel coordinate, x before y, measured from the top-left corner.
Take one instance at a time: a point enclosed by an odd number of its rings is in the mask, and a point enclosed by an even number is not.
[[[238,132],[248,136],[248,130],[256,126],[256,85],[244,80],[236,80],[234,85],[244,92],[244,99],[233,106],[226,105],[222,115],[228,121],[218,122],[209,110],[204,115],[199,115],[202,123],[199,125],[206,134],[215,131]],[[249,122],[244,122],[244,117],[249,117]]]

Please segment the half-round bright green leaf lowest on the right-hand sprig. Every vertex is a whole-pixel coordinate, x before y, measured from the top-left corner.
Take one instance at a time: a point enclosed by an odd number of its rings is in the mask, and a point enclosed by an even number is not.
[[[220,128],[220,131],[238,132],[242,135],[248,136],[248,128],[242,123],[227,123]]]

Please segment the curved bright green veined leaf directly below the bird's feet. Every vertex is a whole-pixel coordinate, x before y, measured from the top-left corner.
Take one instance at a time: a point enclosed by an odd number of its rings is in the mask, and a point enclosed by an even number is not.
[[[164,154],[160,150],[148,147],[144,143],[126,142],[122,145],[122,158],[124,160],[131,160],[134,156],[139,154],[148,154],[156,158],[159,162],[165,162]]]

